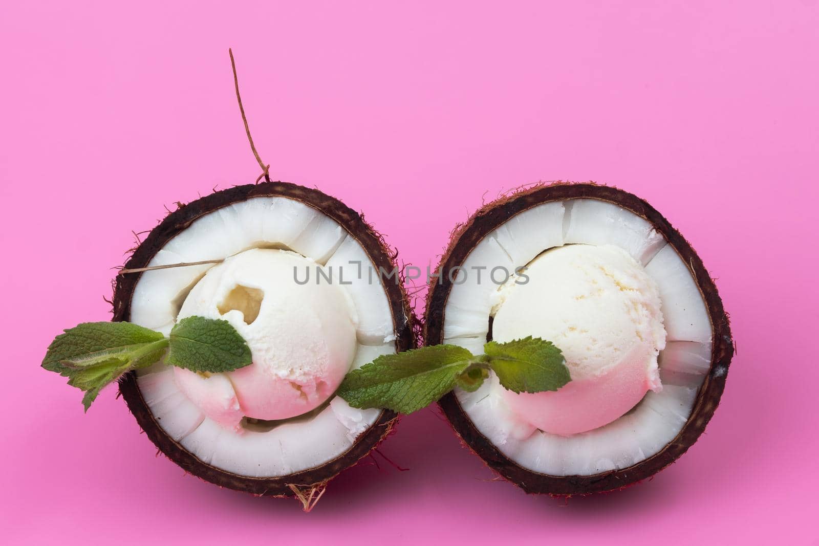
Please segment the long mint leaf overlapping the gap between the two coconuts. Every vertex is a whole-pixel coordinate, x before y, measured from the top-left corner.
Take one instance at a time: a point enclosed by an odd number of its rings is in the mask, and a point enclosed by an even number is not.
[[[354,408],[413,413],[452,390],[473,360],[472,353],[457,345],[384,354],[348,373],[337,395]]]

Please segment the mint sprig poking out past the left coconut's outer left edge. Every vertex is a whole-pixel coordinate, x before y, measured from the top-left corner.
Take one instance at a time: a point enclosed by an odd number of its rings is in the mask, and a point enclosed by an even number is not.
[[[158,362],[194,372],[229,372],[252,362],[242,336],[225,320],[188,317],[163,336],[132,323],[82,323],[57,336],[43,368],[83,390],[85,411],[100,390],[124,373]]]

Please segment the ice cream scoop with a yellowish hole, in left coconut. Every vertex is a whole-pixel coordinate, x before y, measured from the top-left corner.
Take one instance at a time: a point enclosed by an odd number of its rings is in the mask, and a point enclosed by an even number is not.
[[[333,395],[355,357],[357,318],[349,296],[319,278],[319,267],[287,250],[246,250],[192,288],[179,318],[227,320],[253,356],[227,373],[174,368],[179,389],[207,417],[238,430],[242,417],[296,417]]]

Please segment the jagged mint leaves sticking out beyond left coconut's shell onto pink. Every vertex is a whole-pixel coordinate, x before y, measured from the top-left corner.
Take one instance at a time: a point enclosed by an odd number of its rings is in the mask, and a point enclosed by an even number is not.
[[[48,346],[43,368],[84,390],[85,411],[100,390],[133,368],[161,359],[168,341],[160,332],[131,323],[83,323]]]

